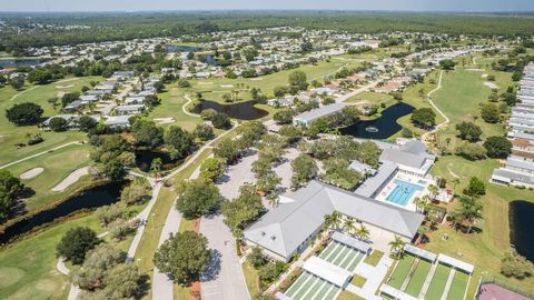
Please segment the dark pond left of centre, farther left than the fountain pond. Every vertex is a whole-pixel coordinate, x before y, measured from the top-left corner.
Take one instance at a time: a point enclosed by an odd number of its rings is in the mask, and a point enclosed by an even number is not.
[[[218,112],[228,114],[228,117],[233,119],[239,120],[257,120],[269,114],[268,111],[256,108],[256,103],[257,101],[247,101],[234,104],[220,104],[215,101],[204,100],[192,109],[192,112],[200,113],[206,109],[215,109]]]

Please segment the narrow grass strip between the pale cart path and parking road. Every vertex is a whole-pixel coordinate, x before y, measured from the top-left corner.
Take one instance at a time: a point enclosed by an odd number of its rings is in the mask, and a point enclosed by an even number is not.
[[[187,167],[184,171],[179,172],[177,176],[174,178],[169,179],[176,186],[176,183],[181,182],[186,179],[188,179],[192,172],[200,166],[200,163],[208,158],[211,154],[211,150],[205,150],[194,163],[191,163],[189,167]],[[161,229],[164,228],[165,220],[167,219],[167,214],[169,213],[170,209],[172,208],[172,204],[175,202],[175,199],[177,197],[177,193],[174,189],[171,188],[161,188],[158,201],[155,203],[152,207],[152,210],[150,212],[150,216],[148,217],[147,220],[147,226],[145,228],[145,232],[142,234],[141,241],[139,242],[139,247],[137,249],[137,257],[136,257],[136,263],[139,267],[139,271],[141,274],[146,274],[150,278],[150,281],[152,279],[152,271],[154,271],[154,253],[158,249],[158,242],[159,242],[159,237],[161,234]],[[184,228],[182,224],[180,223],[180,230],[186,230],[188,229],[188,226],[192,227],[192,222],[188,222],[187,220],[182,219],[181,222],[184,222]],[[175,284],[175,294],[189,294],[189,289],[187,287],[178,287]],[[151,299],[151,291],[147,291],[147,294],[145,296],[144,299]],[[182,299],[182,298],[178,298]]]

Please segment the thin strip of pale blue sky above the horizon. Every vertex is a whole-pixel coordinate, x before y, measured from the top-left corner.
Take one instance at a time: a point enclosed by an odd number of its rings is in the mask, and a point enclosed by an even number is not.
[[[534,11],[534,0],[0,0],[0,11]]]

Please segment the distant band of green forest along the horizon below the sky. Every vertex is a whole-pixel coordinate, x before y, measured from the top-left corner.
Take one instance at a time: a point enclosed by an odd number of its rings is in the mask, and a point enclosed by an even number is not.
[[[28,17],[32,18],[29,19]],[[1,47],[10,51],[24,47],[44,47],[130,40],[136,38],[179,37],[211,31],[268,27],[305,27],[350,32],[392,31],[435,32],[477,36],[531,36],[534,14],[467,14],[415,12],[261,11],[261,12],[139,12],[139,13],[3,13],[0,19],[24,28],[20,32],[0,32]],[[31,23],[53,24],[32,28]],[[90,28],[60,29],[58,27]],[[0,49],[1,50],[1,49]]]

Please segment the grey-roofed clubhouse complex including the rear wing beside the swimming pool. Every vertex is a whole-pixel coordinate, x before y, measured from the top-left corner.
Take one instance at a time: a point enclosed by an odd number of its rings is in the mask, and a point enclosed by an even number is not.
[[[377,144],[383,150],[379,168],[374,169],[358,161],[350,164],[350,168],[366,174],[358,189],[346,191],[313,180],[305,188],[280,196],[278,207],[244,231],[245,240],[260,247],[269,257],[287,261],[305,251],[309,241],[320,232],[325,216],[337,211],[343,218],[350,217],[364,223],[372,233],[372,240],[382,240],[386,248],[395,236],[412,241],[424,216],[413,206],[392,203],[379,199],[379,196],[387,186],[396,184],[399,179],[426,188],[432,182],[428,172],[436,158],[427,152],[421,141]],[[423,193],[425,191],[418,196]],[[412,198],[416,196],[414,193]],[[380,243],[377,240],[374,240],[375,247]]]

